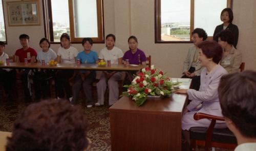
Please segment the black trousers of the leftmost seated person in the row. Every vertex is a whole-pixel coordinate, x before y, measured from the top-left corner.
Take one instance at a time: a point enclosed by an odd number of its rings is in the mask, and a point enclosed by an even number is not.
[[[12,100],[13,98],[13,86],[16,81],[16,70],[6,71],[0,69],[0,84],[3,85],[5,93],[8,98]]]

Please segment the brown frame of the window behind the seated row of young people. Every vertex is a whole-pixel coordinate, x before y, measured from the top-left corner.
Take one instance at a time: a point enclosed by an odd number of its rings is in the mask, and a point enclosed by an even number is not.
[[[68,0],[68,3],[69,3],[69,19],[70,19],[69,23],[70,23],[71,43],[81,44],[83,37],[75,37],[75,33],[74,33],[73,0]],[[92,39],[94,44],[104,44],[105,40],[104,40],[103,0],[96,0],[96,4],[97,4],[98,37],[92,37]],[[60,44],[60,42],[54,41],[51,0],[42,0],[42,7],[44,11],[45,36],[50,40],[51,44]]]

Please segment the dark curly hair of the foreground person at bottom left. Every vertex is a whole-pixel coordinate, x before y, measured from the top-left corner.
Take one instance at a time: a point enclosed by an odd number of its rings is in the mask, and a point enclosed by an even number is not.
[[[78,106],[67,100],[30,104],[16,119],[6,150],[84,150],[88,121]]]

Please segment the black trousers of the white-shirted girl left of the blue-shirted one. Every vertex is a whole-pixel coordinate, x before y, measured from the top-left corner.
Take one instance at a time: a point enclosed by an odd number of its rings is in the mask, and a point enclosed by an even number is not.
[[[71,86],[69,84],[69,79],[73,76],[74,70],[59,70],[56,73],[56,88],[59,98],[64,98],[66,93],[66,98],[72,97]],[[64,92],[65,90],[65,92]]]

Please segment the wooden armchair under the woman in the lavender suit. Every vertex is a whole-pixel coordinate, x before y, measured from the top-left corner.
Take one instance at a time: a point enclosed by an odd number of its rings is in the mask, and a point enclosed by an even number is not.
[[[210,147],[234,149],[237,146],[237,139],[228,128],[214,128],[216,120],[224,121],[223,117],[208,115],[204,113],[196,113],[195,120],[209,119],[211,123],[209,127],[191,127],[190,145],[191,150],[196,150],[196,146],[204,146],[205,150]]]

